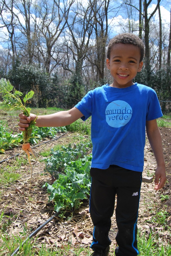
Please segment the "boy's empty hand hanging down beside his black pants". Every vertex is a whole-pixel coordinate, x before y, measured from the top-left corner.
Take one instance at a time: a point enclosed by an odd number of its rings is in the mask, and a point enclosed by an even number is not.
[[[164,187],[166,182],[166,171],[165,167],[157,167],[155,170],[155,186],[154,189],[157,191]]]

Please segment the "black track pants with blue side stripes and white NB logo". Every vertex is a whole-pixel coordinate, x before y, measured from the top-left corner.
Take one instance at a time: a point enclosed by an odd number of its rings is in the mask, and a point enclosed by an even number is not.
[[[119,246],[116,256],[136,256],[137,218],[142,173],[117,165],[108,169],[91,168],[90,215],[94,225],[91,248],[105,249],[111,244],[108,233],[117,194],[116,223]]]

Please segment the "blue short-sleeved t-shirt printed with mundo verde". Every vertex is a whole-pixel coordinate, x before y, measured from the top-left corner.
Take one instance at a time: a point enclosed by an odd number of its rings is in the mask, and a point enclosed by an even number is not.
[[[142,172],[146,121],[162,116],[155,91],[135,83],[127,88],[109,84],[89,91],[75,107],[91,116],[93,158],[91,167],[110,165]]]

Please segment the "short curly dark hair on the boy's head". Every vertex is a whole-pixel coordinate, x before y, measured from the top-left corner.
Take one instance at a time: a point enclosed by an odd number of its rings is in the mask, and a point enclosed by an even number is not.
[[[143,60],[144,51],[145,51],[144,44],[138,36],[131,34],[131,33],[119,34],[109,41],[108,48],[107,48],[107,58],[108,59],[110,59],[110,52],[111,52],[112,47],[115,44],[120,44],[120,43],[138,46],[138,48],[140,49],[140,62]]]

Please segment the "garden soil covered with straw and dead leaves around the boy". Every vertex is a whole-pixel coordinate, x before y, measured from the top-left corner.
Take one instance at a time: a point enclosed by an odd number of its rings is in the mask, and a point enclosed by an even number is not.
[[[157,192],[154,191],[154,180],[152,183],[142,183],[138,228],[141,230],[142,234],[146,234],[147,238],[152,231],[155,234],[158,233],[159,238],[162,239],[163,243],[171,243],[170,233],[167,229],[167,225],[171,225],[171,129],[161,127],[160,131],[163,139],[167,182],[165,187]],[[57,143],[67,143],[70,141],[71,137],[71,133],[65,134],[57,141],[45,144],[46,148],[53,147]],[[34,153],[38,156],[45,145],[34,148]],[[21,153],[21,155],[24,156],[24,153],[19,147],[13,150],[7,150],[5,154],[1,154],[0,161],[7,159],[15,153]],[[24,157],[26,158],[26,156]],[[50,175],[41,174],[44,166],[37,159],[31,157],[31,163],[33,165],[32,180],[30,179],[29,165],[22,164],[17,171],[20,174],[23,173],[22,178],[18,179],[15,183],[8,185],[8,187],[0,188],[0,215],[2,214],[2,211],[4,211],[4,215],[7,216],[3,219],[2,223],[0,223],[0,226],[1,229],[2,226],[4,227],[9,235],[9,239],[12,239],[12,235],[20,236],[22,239],[25,239],[31,232],[37,229],[54,214],[53,202],[48,201],[46,188],[42,187],[45,182],[52,183],[52,177]],[[1,168],[7,170],[8,167],[13,164],[14,159],[11,158],[10,160],[1,163]],[[147,140],[144,154],[143,175],[154,177],[155,168],[156,162]],[[169,199],[165,199],[166,196],[168,196]],[[163,201],[161,200],[162,198],[164,198]],[[161,225],[155,221],[157,212],[167,212],[165,222],[167,225]],[[52,250],[55,246],[64,248],[64,246],[68,246],[68,242],[71,243],[73,247],[83,246],[88,248],[92,242],[92,232],[93,225],[89,214],[89,200],[85,199],[80,209],[74,212],[66,212],[64,219],[56,217],[36,236],[38,236],[37,243],[40,243],[41,245],[46,242],[46,248],[50,247]],[[116,247],[116,233],[117,226],[114,213],[110,230],[110,239],[112,241],[111,250],[113,248],[113,251]],[[7,256],[9,253],[4,251],[1,255]],[[68,255],[73,255],[72,251],[71,254]],[[82,253],[82,255],[87,254]]]

